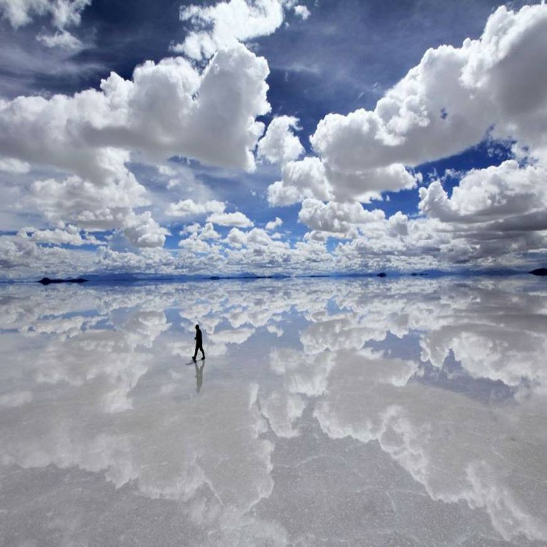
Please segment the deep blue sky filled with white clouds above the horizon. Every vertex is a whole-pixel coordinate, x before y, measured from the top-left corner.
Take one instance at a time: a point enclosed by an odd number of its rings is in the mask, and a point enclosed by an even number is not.
[[[547,263],[547,5],[0,0],[0,278]]]

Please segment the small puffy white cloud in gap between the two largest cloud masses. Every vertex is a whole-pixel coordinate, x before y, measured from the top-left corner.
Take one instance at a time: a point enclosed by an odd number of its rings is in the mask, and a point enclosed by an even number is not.
[[[300,130],[298,118],[278,116],[267,127],[264,137],[258,141],[257,158],[272,164],[286,164],[304,154],[305,149],[293,130]]]

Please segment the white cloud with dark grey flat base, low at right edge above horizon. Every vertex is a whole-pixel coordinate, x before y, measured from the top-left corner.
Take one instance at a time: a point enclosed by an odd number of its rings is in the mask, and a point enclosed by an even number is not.
[[[451,234],[453,260],[496,259],[547,244],[547,172],[515,160],[464,173],[449,197],[440,181],[420,189],[419,207]]]

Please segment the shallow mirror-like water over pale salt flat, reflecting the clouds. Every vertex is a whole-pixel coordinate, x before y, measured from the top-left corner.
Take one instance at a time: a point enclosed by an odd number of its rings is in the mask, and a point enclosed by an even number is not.
[[[547,545],[546,356],[526,277],[4,286],[0,544]]]

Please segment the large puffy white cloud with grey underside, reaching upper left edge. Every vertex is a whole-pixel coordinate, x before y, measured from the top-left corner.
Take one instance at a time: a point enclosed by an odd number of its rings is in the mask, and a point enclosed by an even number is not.
[[[180,57],[147,61],[132,80],[111,73],[100,90],[2,101],[0,128],[9,138],[0,138],[0,153],[97,183],[127,161],[127,150],[252,171],[264,129],[255,117],[270,109],[268,72],[265,59],[240,45],[219,51],[201,72]]]

